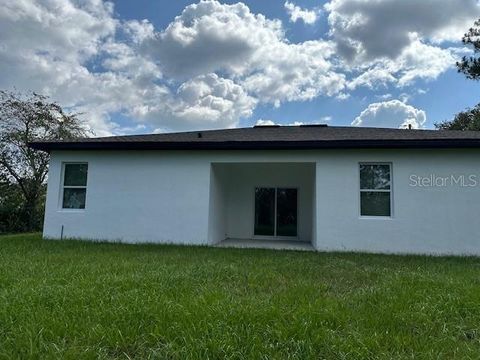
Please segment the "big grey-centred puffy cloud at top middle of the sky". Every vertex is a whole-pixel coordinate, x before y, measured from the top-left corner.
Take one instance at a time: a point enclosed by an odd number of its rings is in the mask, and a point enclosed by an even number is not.
[[[291,44],[279,20],[253,14],[242,3],[189,5],[143,49],[169,76],[223,72],[259,101],[277,106],[334,96],[345,86],[330,61],[333,43]]]

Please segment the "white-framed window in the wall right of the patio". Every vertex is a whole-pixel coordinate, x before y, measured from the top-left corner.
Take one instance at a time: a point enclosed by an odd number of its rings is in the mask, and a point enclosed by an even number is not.
[[[391,164],[360,164],[360,215],[392,215]]]

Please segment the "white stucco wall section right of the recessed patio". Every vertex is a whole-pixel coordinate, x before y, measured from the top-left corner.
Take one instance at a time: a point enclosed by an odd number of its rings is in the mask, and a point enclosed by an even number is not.
[[[319,250],[480,254],[480,151],[332,151],[317,159]],[[359,162],[391,162],[393,216],[359,215]],[[411,175],[476,175],[475,187],[414,187]]]

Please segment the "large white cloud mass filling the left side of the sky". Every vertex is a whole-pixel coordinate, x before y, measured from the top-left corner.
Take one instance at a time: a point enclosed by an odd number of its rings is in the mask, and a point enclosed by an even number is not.
[[[145,130],[145,124],[167,130],[231,127],[256,105],[240,85],[215,74],[165,79],[155,59],[139,51],[154,37],[153,26],[118,21],[110,3],[4,2],[0,86],[51,95],[84,112],[97,135]],[[116,112],[137,124],[118,126],[111,118]]]

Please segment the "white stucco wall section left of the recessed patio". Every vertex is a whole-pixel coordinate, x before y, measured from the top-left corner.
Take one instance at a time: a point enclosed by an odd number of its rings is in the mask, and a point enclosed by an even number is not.
[[[62,210],[61,164],[88,162],[85,210]],[[53,152],[44,236],[207,243],[210,167],[193,154]]]

